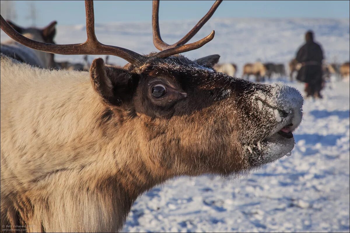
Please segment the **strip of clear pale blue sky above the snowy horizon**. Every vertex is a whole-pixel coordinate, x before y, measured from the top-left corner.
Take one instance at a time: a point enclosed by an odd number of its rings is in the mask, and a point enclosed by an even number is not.
[[[30,26],[29,2],[15,1],[21,26]],[[37,9],[37,26],[52,20],[60,25],[84,24],[84,1],[32,1]],[[350,1],[223,1],[216,18],[349,18]],[[200,19],[214,1],[161,1],[160,20]],[[152,1],[95,1],[97,23],[151,21]]]

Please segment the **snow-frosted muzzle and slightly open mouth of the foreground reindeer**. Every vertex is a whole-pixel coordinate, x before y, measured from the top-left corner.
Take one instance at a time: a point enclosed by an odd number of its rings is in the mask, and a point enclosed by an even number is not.
[[[257,129],[260,140],[244,147],[253,167],[291,155],[295,145],[293,132],[302,120],[303,99],[299,91],[281,84],[272,86],[270,93],[257,91],[252,96],[254,110],[266,125],[265,130]]]

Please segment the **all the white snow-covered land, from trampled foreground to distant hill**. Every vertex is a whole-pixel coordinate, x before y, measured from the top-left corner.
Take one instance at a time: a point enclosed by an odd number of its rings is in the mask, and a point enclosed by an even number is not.
[[[161,22],[162,38],[174,43],[195,23]],[[221,54],[222,62],[238,65],[240,76],[244,63],[258,59],[287,64],[312,29],[327,61],[343,63],[349,60],[349,25],[349,19],[211,19],[190,42],[213,29],[214,40],[186,55]],[[96,34],[105,44],[155,51],[150,22],[97,24]],[[6,38],[1,31],[1,41]],[[85,38],[85,26],[58,26],[57,43]],[[83,62],[82,56],[56,55],[56,60]],[[110,62],[125,64],[117,57]],[[292,156],[238,179],[168,181],[135,202],[123,232],[349,232],[349,82],[334,80],[323,90],[324,99],[305,100]],[[301,83],[288,85],[303,90]]]

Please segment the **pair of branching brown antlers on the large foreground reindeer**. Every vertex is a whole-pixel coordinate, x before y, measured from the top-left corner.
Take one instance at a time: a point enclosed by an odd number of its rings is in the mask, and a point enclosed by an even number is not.
[[[156,3],[155,3],[156,2]],[[147,62],[147,60],[151,58],[163,58],[163,57],[169,57],[171,55],[177,54],[177,53],[183,53],[190,50],[195,50],[198,48],[201,48],[204,44],[208,43],[214,38],[215,32],[212,31],[210,35],[207,37],[204,37],[200,41],[197,41],[195,43],[191,44],[185,44],[188,42],[201,27],[204,25],[205,22],[209,20],[211,15],[215,12],[216,8],[219,6],[221,1],[216,1],[214,5],[211,7],[209,12],[200,20],[200,22],[197,23],[197,25],[179,42],[175,43],[174,45],[168,45],[165,44],[159,35],[159,27],[158,27],[158,9],[159,9],[159,3],[158,1],[153,2],[153,15],[156,14],[156,26],[153,25],[153,29],[158,28],[158,34],[156,34],[157,38],[159,38],[160,42],[163,42],[167,49],[163,50],[161,52],[158,52],[154,54],[153,56],[146,57],[141,54],[138,54],[134,51],[124,49],[117,46],[112,45],[105,45],[100,43],[95,35],[95,26],[94,26],[94,12],[93,12],[93,1],[92,0],[85,0],[85,13],[86,13],[86,34],[87,39],[84,43],[81,44],[49,44],[49,43],[43,43],[38,41],[33,41],[20,33],[18,33],[16,30],[14,30],[1,16],[1,29],[12,39],[15,41],[35,50],[40,50],[43,52],[49,52],[49,53],[57,53],[57,54],[63,54],[63,55],[77,55],[77,54],[91,54],[91,55],[113,55],[117,57],[121,57],[134,66],[142,66]],[[155,13],[155,6],[157,8],[157,11]],[[155,32],[153,32],[153,35],[155,35]],[[156,43],[154,42],[156,45]],[[158,48],[158,46],[156,45]],[[162,47],[163,48],[163,47]],[[159,49],[159,48],[158,48]],[[162,50],[162,49],[161,49]]]

